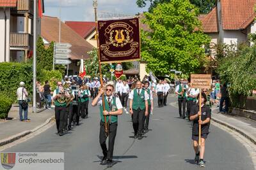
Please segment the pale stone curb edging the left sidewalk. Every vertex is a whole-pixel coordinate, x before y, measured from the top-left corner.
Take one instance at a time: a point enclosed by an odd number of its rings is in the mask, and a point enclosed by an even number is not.
[[[44,127],[45,125],[49,124],[52,120],[54,120],[54,116],[52,116],[52,117],[50,117],[50,118],[47,118],[47,120],[44,122],[44,124],[38,125],[37,127],[35,127],[35,128],[32,129],[32,130],[23,131],[23,132],[20,132],[19,134],[15,134],[15,135],[10,136],[10,137],[8,137],[8,138],[1,139],[1,140],[0,140],[0,146],[7,145],[7,144],[9,144],[9,143],[12,143],[13,141],[17,141],[18,139],[23,138],[24,136],[27,136],[28,134],[31,134],[31,133],[33,133],[33,132],[38,131],[39,129],[41,129],[41,128]]]

